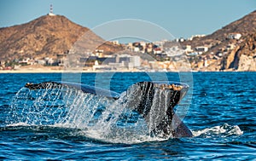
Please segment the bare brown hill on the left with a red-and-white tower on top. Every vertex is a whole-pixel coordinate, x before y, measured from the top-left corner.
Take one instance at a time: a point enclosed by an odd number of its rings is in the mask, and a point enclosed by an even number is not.
[[[23,25],[0,28],[0,59],[55,58],[67,54],[81,37],[84,44],[80,47],[87,50],[98,48],[112,53],[122,49],[105,42],[90,29],[73,23],[65,16],[47,14]]]

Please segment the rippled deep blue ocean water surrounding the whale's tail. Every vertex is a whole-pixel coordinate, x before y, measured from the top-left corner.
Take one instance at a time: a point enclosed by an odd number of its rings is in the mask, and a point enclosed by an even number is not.
[[[256,72],[0,74],[0,80],[0,159],[256,158]],[[141,81],[189,83],[189,93],[176,107],[176,112],[194,136],[150,137],[143,118],[131,115],[113,102],[96,101],[93,96],[76,91],[61,95],[72,97],[73,102],[51,101],[59,96],[55,95],[59,91],[50,90],[46,94],[24,88],[26,83],[61,80],[96,85],[119,93]],[[47,101],[46,97],[49,97]],[[69,106],[68,110],[64,104]],[[96,110],[103,104],[113,106]],[[99,121],[95,118],[96,112],[113,118]],[[112,129],[113,124],[116,129]]]

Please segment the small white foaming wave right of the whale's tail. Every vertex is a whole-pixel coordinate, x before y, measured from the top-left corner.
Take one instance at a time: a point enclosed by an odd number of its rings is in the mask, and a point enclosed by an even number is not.
[[[214,136],[228,137],[231,135],[242,135],[243,131],[237,125],[223,124],[212,128],[192,131],[194,137],[211,138]]]

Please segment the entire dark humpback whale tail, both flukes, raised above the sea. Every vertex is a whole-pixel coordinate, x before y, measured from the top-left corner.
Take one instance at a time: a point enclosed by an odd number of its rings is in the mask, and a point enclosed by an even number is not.
[[[71,87],[82,90],[84,93],[100,95],[113,100],[118,100],[121,96],[116,92],[82,83],[26,83],[25,87],[28,89],[60,89],[61,87]],[[150,135],[191,137],[191,131],[177,117],[173,109],[188,89],[189,85],[185,83],[139,82],[131,85],[123,96],[126,100],[126,107],[143,116],[148,124]]]

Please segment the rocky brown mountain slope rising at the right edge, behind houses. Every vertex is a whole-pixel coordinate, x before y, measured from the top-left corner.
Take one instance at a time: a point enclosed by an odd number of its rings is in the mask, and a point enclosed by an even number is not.
[[[239,33],[241,37],[229,38],[233,33]],[[202,71],[256,71],[255,36],[256,10],[206,37],[195,37],[191,41],[183,42],[182,45],[208,48],[206,53],[196,58],[199,61],[207,59],[210,62],[207,66],[201,67]],[[195,65],[193,68],[198,70],[197,62],[192,60],[193,63]]]

